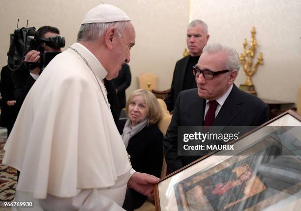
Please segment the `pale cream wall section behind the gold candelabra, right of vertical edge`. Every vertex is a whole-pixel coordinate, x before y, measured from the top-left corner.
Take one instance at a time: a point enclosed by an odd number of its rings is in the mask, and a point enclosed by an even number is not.
[[[296,102],[301,84],[300,0],[192,0],[192,8],[192,20],[209,26],[209,43],[226,44],[239,53],[255,26],[258,51],[264,57],[252,78],[258,96]],[[241,71],[236,84],[244,81]]]

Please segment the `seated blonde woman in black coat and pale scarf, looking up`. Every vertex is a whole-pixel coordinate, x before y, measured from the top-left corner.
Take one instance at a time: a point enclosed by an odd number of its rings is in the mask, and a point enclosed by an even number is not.
[[[148,90],[135,90],[129,97],[125,111],[126,120],[120,120],[119,132],[127,153],[131,156],[133,169],[160,177],[163,161],[163,134],[156,124],[161,109],[156,97]],[[146,196],[130,189],[132,208],[137,209]]]

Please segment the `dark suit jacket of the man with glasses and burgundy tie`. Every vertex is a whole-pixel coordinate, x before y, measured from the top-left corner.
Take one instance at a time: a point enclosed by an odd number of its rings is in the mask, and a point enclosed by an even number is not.
[[[178,126],[203,126],[206,100],[197,89],[182,91],[164,136],[164,153],[168,170],[174,172],[199,157],[178,156]],[[259,126],[269,119],[269,107],[256,96],[241,91],[235,84],[219,110],[212,126]]]

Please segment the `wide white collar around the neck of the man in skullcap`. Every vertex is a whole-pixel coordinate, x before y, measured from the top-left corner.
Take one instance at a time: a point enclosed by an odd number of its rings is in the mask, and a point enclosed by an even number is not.
[[[108,71],[104,69],[99,60],[91,53],[85,46],[80,43],[74,43],[71,48],[78,51],[88,62],[92,71],[95,73],[98,79],[103,80],[108,75]],[[71,50],[71,49],[70,49]],[[72,51],[72,50],[71,50]]]

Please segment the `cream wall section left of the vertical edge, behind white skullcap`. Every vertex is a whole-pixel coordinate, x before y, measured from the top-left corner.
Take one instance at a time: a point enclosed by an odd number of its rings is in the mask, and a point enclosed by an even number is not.
[[[76,41],[81,20],[100,0],[0,0],[0,65],[7,62],[9,34],[17,27],[56,26],[66,38],[66,47]],[[103,0],[124,10],[136,29],[136,45],[131,50],[132,84],[127,94],[138,88],[137,76],[149,71],[158,76],[158,88],[168,89],[175,62],[185,47],[188,24],[187,0]]]

